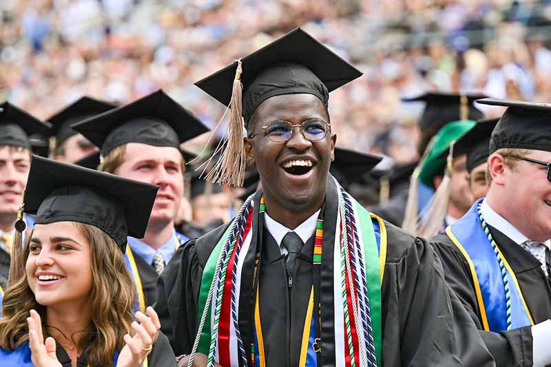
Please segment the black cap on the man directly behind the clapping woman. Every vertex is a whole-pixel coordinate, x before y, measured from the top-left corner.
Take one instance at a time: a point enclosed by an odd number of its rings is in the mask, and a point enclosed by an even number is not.
[[[107,156],[126,143],[180,147],[209,129],[191,112],[158,90],[132,103],[72,125]]]

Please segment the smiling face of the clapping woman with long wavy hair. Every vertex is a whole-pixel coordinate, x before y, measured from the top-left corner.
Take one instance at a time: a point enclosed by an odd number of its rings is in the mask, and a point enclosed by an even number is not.
[[[25,270],[42,306],[85,304],[92,293],[90,242],[74,222],[36,224]]]

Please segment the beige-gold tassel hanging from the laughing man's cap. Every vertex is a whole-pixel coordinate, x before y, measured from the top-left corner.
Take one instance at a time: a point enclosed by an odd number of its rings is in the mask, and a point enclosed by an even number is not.
[[[245,159],[245,144],[243,143],[243,118],[242,118],[242,92],[241,83],[242,64],[237,60],[236,77],[233,79],[233,88],[231,91],[231,101],[229,107],[230,120],[228,126],[228,135],[222,139],[222,142],[214,149],[210,162],[214,156],[220,152],[218,162],[209,171],[205,180],[217,183],[218,185],[231,185],[241,187],[245,180],[245,168],[247,161]],[[222,116],[222,119],[224,116]],[[220,125],[220,123],[218,123]],[[217,126],[218,127],[218,126]],[[214,135],[216,128],[213,130]],[[212,136],[212,135],[211,135]],[[207,163],[205,162],[205,163]]]

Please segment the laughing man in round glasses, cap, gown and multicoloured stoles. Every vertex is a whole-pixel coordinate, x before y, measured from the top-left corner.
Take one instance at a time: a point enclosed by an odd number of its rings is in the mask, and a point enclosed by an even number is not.
[[[299,28],[197,83],[233,103],[214,176],[239,185],[246,160],[262,189],[160,275],[156,311],[176,355],[210,366],[493,365],[430,245],[329,175],[329,92],[360,75]]]

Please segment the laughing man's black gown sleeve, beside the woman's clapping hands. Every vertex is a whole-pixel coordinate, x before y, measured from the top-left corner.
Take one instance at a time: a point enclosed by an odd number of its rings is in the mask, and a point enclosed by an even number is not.
[[[175,355],[189,354],[193,347],[201,276],[196,240],[189,240],[178,248],[157,279],[154,308]]]

